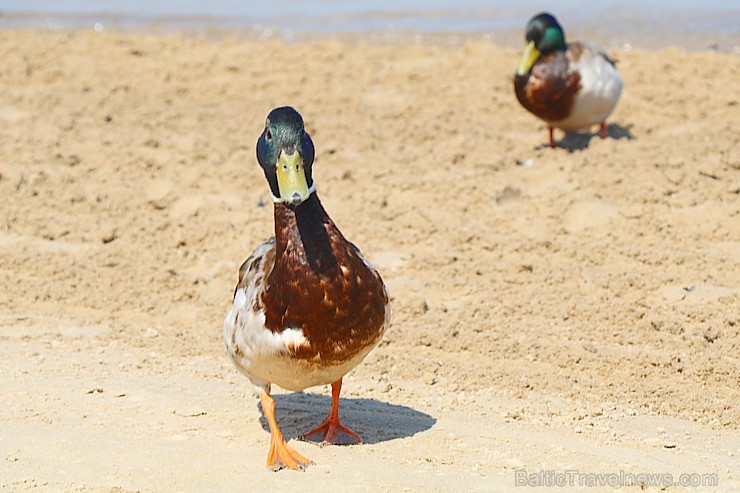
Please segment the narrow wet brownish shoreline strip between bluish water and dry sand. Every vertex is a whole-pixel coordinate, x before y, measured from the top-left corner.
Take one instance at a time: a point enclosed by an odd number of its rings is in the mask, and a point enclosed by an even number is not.
[[[637,27],[637,20],[635,25]],[[467,41],[483,41],[502,48],[522,46],[522,26],[496,29],[439,30],[403,28],[389,25],[374,29],[281,29],[259,19],[228,20],[208,16],[179,16],[148,18],[112,14],[23,14],[0,15],[2,30],[34,30],[38,32],[98,31],[112,34],[205,36],[213,40],[241,38],[249,40],[281,40],[287,43],[316,42],[325,39],[344,43],[368,42],[371,44],[423,44],[429,46],[461,47]],[[609,50],[640,48],[658,50],[678,47],[688,51],[715,51],[740,53],[740,31],[716,34],[712,32],[674,32],[669,26],[663,29],[597,29],[587,24],[566,28],[569,39],[591,40]]]

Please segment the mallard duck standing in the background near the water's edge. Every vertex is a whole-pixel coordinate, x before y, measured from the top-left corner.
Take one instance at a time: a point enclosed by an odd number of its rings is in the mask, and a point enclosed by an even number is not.
[[[606,117],[622,93],[614,60],[594,44],[566,43],[563,28],[548,13],[529,21],[526,39],[514,90],[522,106],[547,123],[550,147],[553,127],[570,132],[598,123],[605,139]]]

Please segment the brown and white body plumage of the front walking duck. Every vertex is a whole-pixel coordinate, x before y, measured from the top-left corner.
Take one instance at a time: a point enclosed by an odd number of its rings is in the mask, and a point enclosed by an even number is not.
[[[257,386],[328,384],[356,366],[390,324],[375,268],[348,242],[316,194],[275,204],[275,238],[240,269],[224,340]]]

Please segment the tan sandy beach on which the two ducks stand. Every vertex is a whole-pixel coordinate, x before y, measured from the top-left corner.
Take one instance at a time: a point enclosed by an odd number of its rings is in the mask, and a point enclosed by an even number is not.
[[[740,56],[612,52],[610,137],[551,150],[492,43],[0,32],[0,489],[740,489]],[[272,473],[221,330],[285,104],[394,322],[345,378],[365,443]],[[276,394],[289,437],[329,409]]]

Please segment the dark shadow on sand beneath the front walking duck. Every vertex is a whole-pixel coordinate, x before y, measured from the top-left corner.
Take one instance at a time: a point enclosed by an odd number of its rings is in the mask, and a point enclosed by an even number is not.
[[[278,426],[286,440],[296,438],[319,426],[331,409],[331,397],[295,392],[273,395]],[[262,408],[260,424],[270,431]],[[406,406],[364,398],[341,398],[339,416],[342,424],[362,437],[367,444],[406,438],[429,430],[437,422],[432,416]]]

